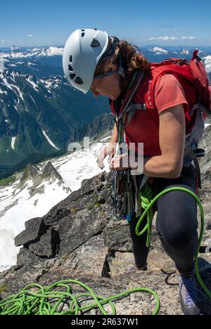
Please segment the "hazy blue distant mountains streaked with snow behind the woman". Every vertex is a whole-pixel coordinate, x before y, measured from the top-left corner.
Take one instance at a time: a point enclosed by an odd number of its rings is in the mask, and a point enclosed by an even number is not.
[[[191,58],[192,50],[141,47],[151,61]],[[0,49],[0,178],[34,159],[65,153],[68,143],[83,138],[84,124],[110,112],[106,98],[72,89],[63,77],[62,53],[62,47]],[[211,72],[211,47],[202,47],[200,56]]]

